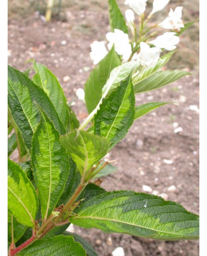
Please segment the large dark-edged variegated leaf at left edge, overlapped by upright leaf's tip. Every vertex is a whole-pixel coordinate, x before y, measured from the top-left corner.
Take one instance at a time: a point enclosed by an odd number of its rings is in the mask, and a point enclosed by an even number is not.
[[[46,93],[38,85],[35,85],[27,75],[11,66],[8,66],[8,90],[10,113],[28,149],[31,148],[31,138],[40,121],[34,101],[52,120],[55,128],[61,134],[65,133],[61,120]]]

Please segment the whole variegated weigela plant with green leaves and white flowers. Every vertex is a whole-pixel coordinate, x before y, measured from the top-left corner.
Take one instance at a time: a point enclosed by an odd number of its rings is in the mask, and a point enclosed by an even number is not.
[[[103,157],[134,120],[169,103],[135,106],[135,94],[188,75],[162,70],[193,23],[184,25],[183,7],[148,26],[168,2],[154,0],[145,17],[147,0],[126,0],[125,20],[109,0],[111,32],[105,42],[91,44],[96,67],[84,91],[77,90],[89,113],[81,124],[46,66],[33,61],[32,80],[29,71],[8,67],[8,155],[19,152],[18,163],[8,159],[10,256],[97,255],[83,238],[65,231],[71,223],[159,240],[198,238],[198,216],[180,204],[152,194],[106,192],[91,182],[114,171]]]

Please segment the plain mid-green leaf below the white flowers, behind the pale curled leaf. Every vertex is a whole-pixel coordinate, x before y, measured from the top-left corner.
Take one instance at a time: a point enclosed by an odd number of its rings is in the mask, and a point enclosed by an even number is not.
[[[111,71],[114,69],[114,67],[117,67],[120,64],[121,61],[113,46],[111,51],[91,72],[84,88],[85,103],[89,113],[93,111],[93,109],[98,105],[100,99],[102,98],[102,89],[106,84]]]

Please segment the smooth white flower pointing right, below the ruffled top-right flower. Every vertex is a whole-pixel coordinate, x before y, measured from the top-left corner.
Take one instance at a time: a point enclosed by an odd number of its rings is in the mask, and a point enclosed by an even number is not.
[[[175,45],[179,43],[179,41],[180,39],[178,36],[176,36],[175,32],[166,32],[148,43],[151,43],[158,48],[165,48],[168,51],[172,51],[176,49]]]

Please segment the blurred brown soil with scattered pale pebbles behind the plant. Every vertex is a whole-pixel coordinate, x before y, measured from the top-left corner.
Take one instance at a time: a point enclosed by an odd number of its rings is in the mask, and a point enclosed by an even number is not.
[[[126,10],[124,0],[118,2],[121,9]],[[149,1],[149,5],[151,3]],[[59,78],[68,101],[74,99],[75,91],[84,87],[93,69],[90,43],[105,40],[105,34],[109,32],[107,1],[62,1],[61,21],[54,17],[49,23],[42,21],[40,16],[44,13],[44,1],[9,0],[8,4],[9,64],[22,71],[30,65],[25,64],[29,59],[47,65]],[[171,0],[170,6],[156,19],[163,21],[169,7],[175,9],[180,5],[184,6],[185,22],[198,18],[198,0]],[[35,13],[37,8],[39,15]],[[198,24],[181,36],[177,48],[168,68],[185,69],[194,75],[157,91],[137,95],[136,105],[150,101],[176,101],[179,104],[166,105],[134,122],[127,136],[107,156],[109,160],[117,160],[114,165],[118,171],[103,178],[101,185],[108,191],[135,192],[143,192],[142,186],[148,185],[153,193],[164,193],[168,200],[198,213]],[[82,122],[87,116],[86,108],[78,100],[75,103],[72,108]],[[177,125],[183,130],[174,133]],[[110,256],[118,246],[124,248],[125,256],[199,255],[198,241],[155,241],[76,226],[75,232],[92,243],[99,256]]]

